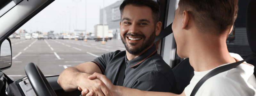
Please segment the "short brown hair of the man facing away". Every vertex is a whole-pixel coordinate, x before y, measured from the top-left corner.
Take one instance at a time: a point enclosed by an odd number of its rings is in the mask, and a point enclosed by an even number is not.
[[[214,28],[217,32],[210,34],[219,35],[234,24],[238,0],[180,0],[179,8],[180,14],[184,10],[191,13],[199,30]]]

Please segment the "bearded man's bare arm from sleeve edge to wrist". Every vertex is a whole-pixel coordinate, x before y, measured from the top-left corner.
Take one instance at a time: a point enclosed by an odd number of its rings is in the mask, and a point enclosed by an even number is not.
[[[86,62],[75,67],[68,67],[60,74],[58,84],[60,84],[60,87],[65,91],[74,91],[78,86],[82,89],[88,88],[85,86],[89,83],[87,77],[95,72],[102,74],[100,68],[93,62]]]

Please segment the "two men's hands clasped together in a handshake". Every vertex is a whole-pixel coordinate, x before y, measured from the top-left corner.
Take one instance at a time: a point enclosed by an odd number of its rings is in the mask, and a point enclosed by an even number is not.
[[[88,79],[90,79],[88,80],[90,85],[78,85],[78,90],[82,91],[83,96],[112,96],[110,91],[114,89],[114,85],[106,76],[94,73],[88,76]]]

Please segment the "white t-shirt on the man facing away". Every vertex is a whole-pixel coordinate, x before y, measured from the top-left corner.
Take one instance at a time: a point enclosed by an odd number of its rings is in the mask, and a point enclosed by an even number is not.
[[[229,54],[238,60],[243,60],[238,54]],[[254,66],[244,63],[238,65],[236,68],[219,73],[206,80],[196,92],[195,96],[256,96],[256,79],[253,75]],[[223,64],[221,66],[224,65],[227,64]],[[184,90],[186,96],[190,96],[198,81],[213,69],[203,72],[194,71],[195,75],[191,79],[190,84]]]

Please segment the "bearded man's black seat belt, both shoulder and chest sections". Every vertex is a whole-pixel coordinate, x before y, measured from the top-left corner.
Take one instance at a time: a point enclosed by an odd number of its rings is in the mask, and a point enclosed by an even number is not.
[[[155,42],[163,39],[164,37],[170,35],[172,33],[172,23],[168,25],[166,28],[164,28],[158,36],[155,37]],[[124,73],[125,73],[126,64],[125,61],[120,67],[117,84],[118,86],[123,86],[124,83]]]

